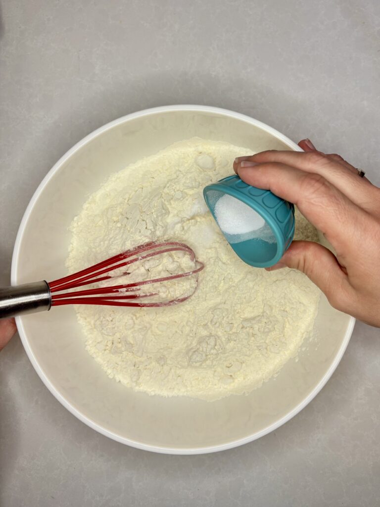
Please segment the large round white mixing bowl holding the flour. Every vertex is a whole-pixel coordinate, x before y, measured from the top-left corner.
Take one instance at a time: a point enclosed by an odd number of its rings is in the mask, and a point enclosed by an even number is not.
[[[214,107],[158,107],[108,123],[76,144],[32,197],[17,235],[12,284],[66,274],[68,226],[111,173],[193,136],[252,151],[299,150],[273,128]],[[84,347],[73,308],[17,318],[22,343],[42,381],[84,423],[123,444],[171,454],[220,451],[255,440],[305,407],[343,355],[354,319],[321,299],[316,338],[298,361],[248,396],[208,403],[136,393],[109,379]]]

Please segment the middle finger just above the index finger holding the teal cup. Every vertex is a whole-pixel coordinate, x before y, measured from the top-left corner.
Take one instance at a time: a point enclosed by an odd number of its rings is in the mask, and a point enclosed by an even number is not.
[[[335,155],[338,157],[338,155]],[[266,151],[257,153],[249,160],[239,161],[238,166],[255,167],[253,164],[278,162],[301,169],[309,173],[323,176],[334,185],[341,193],[346,195],[359,206],[370,211],[373,208],[373,187],[367,181],[358,176],[358,171],[347,162],[332,160],[320,152],[292,152],[292,151]],[[249,165],[252,164],[252,165]],[[348,170],[350,167],[350,170]]]

